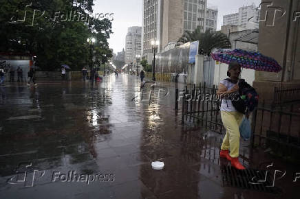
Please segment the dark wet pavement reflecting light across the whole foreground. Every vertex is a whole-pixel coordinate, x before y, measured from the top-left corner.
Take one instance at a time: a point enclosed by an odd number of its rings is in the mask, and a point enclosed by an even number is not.
[[[224,185],[222,135],[181,124],[175,88],[140,89],[134,75],[104,82],[7,84],[0,97],[0,198],[299,198],[299,166],[243,141],[253,169],[273,163],[277,193]],[[164,169],[151,168],[163,161]],[[271,178],[272,181],[272,178]],[[238,183],[237,183],[238,184]]]

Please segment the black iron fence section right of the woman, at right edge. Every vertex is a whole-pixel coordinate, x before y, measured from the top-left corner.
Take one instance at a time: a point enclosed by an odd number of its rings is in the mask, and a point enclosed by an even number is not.
[[[253,113],[252,145],[271,147],[276,153],[300,149],[300,113],[293,110],[294,104],[275,108],[263,102],[257,107]]]

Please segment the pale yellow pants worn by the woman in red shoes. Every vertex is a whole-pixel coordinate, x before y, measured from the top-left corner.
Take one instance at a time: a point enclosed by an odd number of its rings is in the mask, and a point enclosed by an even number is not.
[[[230,150],[230,156],[236,158],[239,156],[239,126],[242,123],[243,114],[221,111],[221,117],[226,128],[221,149]]]

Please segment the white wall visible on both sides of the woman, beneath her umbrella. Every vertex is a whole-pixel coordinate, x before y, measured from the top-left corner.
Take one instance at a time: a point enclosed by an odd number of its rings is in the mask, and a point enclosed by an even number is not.
[[[213,80],[213,84],[218,85],[221,80],[228,78],[227,76],[228,65],[224,63],[215,64],[215,78]],[[251,86],[255,80],[255,70],[253,69],[244,69],[242,68],[242,79],[245,79],[248,84]]]

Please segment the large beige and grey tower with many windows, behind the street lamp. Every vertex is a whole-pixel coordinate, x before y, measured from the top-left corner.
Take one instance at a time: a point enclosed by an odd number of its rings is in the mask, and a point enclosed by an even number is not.
[[[197,26],[206,30],[207,0],[144,0],[142,5],[142,55],[152,60],[151,40],[158,40],[158,52],[176,43],[185,30]]]

